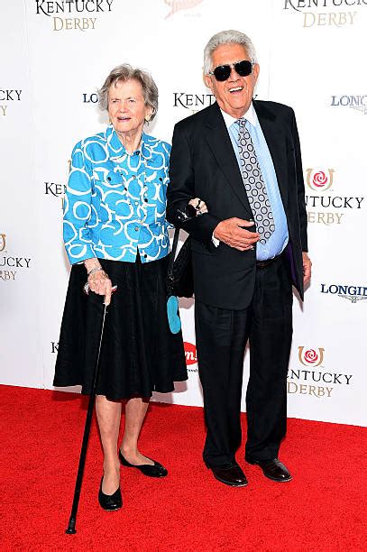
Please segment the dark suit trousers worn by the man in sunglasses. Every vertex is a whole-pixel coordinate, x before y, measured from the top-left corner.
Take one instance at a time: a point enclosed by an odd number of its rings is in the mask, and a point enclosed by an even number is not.
[[[246,392],[252,460],[278,456],[287,425],[287,372],[292,338],[292,285],[285,255],[256,268],[252,302],[232,310],[196,301],[198,372],[204,393],[208,466],[234,462],[241,444],[243,357],[250,345]]]

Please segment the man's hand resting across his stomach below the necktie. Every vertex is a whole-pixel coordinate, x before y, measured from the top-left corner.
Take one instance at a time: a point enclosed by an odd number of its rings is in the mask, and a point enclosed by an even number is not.
[[[246,230],[246,227],[251,226],[253,226],[253,222],[249,220],[227,218],[216,226],[214,237],[238,251],[247,251],[253,249],[253,245],[260,240],[260,235],[257,232]]]

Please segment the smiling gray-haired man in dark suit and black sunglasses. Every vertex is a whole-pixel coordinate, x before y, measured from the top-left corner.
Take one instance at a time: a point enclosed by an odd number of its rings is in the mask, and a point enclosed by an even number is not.
[[[247,484],[241,444],[243,354],[250,343],[245,460],[276,482],[286,433],[292,284],[311,275],[298,131],[288,106],[252,99],[259,65],[242,32],[206,44],[204,78],[216,103],[176,124],[168,219],[190,198],[208,213],[185,222],[192,238],[197,359],[204,391],[204,461],[216,479]]]

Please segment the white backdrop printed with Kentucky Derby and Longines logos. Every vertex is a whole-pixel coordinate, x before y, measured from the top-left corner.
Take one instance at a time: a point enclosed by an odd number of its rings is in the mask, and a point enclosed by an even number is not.
[[[149,69],[160,109],[148,132],[170,141],[177,121],[212,101],[201,78],[206,41],[234,28],[257,47],[258,97],[294,107],[303,153],[314,265],[304,306],[294,300],[289,416],[367,425],[367,0],[0,8],[0,382],[51,388],[69,276],[61,201],[72,146],[106,125],[96,88],[120,63]],[[181,318],[189,379],[155,399],[201,405],[192,301],[182,301]],[[244,375],[245,386],[248,358]]]

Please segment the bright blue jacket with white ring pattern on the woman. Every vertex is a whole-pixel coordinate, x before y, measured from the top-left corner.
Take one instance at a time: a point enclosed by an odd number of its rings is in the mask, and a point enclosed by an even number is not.
[[[170,252],[166,221],[170,144],[142,133],[129,155],[112,125],[77,143],[64,202],[71,264],[91,257],[155,261]]]

